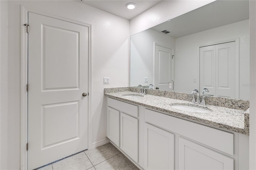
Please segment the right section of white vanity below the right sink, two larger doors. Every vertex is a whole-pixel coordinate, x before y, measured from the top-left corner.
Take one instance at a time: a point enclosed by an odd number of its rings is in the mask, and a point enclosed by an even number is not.
[[[147,108],[144,109],[144,120],[145,169],[234,170],[248,168],[248,160],[241,158],[242,156],[240,156],[241,164],[238,164],[237,132],[218,130]],[[246,136],[241,136],[241,138],[248,140]],[[242,144],[241,146],[244,147]],[[165,164],[161,162],[162,160]],[[162,167],[163,164],[164,167]]]

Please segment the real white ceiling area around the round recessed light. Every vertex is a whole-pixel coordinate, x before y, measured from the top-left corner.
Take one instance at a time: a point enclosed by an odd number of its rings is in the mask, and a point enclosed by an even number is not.
[[[161,0],[82,0],[82,3],[130,20],[160,1]],[[136,8],[133,10],[127,9],[126,4],[129,2],[135,3],[137,5]]]

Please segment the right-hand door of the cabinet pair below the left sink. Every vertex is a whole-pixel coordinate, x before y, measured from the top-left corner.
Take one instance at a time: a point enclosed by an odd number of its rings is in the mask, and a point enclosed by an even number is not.
[[[138,119],[121,113],[120,115],[120,148],[138,162]]]

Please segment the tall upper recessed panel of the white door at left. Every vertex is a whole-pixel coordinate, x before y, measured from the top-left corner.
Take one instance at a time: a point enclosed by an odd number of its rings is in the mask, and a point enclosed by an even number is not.
[[[42,29],[43,89],[79,88],[78,32],[46,25]]]

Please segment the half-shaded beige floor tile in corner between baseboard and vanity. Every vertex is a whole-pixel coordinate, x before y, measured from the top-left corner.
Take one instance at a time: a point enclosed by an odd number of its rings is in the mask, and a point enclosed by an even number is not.
[[[120,152],[116,150],[110,143],[107,143],[92,150],[86,150],[85,153],[92,164],[97,165],[100,162],[116,156]]]

